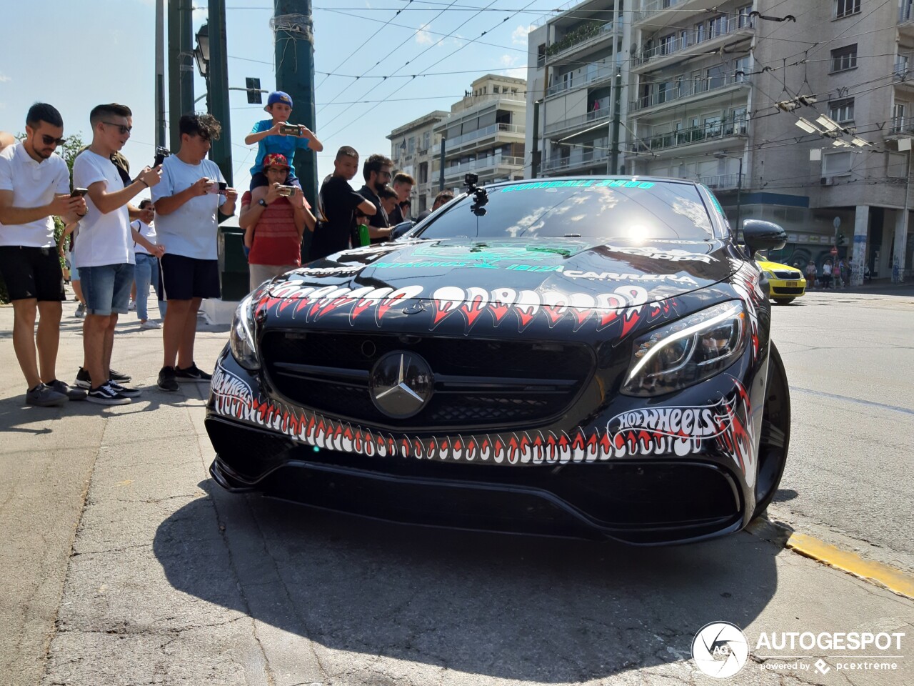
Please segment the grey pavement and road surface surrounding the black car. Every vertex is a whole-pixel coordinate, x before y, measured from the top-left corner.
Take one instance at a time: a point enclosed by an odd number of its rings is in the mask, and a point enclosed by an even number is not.
[[[813,294],[775,311],[794,433],[771,515],[909,564],[914,297],[893,293]],[[119,326],[115,366],[145,389],[138,402],[27,408],[11,315],[0,307],[0,684],[914,682],[914,603],[748,532],[632,549],[225,493],[207,475],[207,389],[154,388],[160,332]],[[69,378],[78,320],[64,329]],[[197,362],[210,366],[224,340],[201,327]],[[691,658],[696,631],[717,620],[749,640],[749,662],[725,681]],[[872,650],[757,645],[788,631],[905,638],[894,669],[851,673],[847,659]],[[827,669],[814,670],[819,658]]]

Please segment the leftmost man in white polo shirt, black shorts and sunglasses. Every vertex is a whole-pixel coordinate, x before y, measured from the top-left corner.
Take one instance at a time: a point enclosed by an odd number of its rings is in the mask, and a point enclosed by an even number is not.
[[[25,140],[0,152],[0,273],[13,302],[13,348],[28,384],[26,402],[43,407],[86,397],[58,381],[55,369],[66,295],[51,218],[75,220],[86,212],[85,200],[70,197],[67,163],[54,155],[62,135],[60,113],[36,102]]]

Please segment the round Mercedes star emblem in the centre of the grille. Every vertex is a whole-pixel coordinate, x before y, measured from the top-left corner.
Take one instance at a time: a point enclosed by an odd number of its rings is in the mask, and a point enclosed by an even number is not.
[[[377,360],[368,390],[378,410],[406,419],[425,407],[434,385],[428,362],[415,353],[394,350]]]

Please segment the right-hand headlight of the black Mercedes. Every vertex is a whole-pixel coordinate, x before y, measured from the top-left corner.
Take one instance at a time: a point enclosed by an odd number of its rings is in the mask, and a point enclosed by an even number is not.
[[[655,328],[635,339],[622,393],[662,395],[709,379],[739,359],[747,340],[746,309],[739,300]]]

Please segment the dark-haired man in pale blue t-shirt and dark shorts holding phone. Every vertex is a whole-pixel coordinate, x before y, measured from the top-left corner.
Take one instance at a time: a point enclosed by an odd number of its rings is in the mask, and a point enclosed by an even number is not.
[[[168,250],[159,262],[159,299],[168,303],[158,380],[163,391],[177,391],[178,381],[212,379],[194,362],[197,311],[203,298],[221,295],[218,211],[234,214],[238,198],[216,163],[206,159],[210,141],[222,130],[216,119],[185,114],[178,128],[181,149],[165,158],[162,183],[153,190],[155,230]]]

